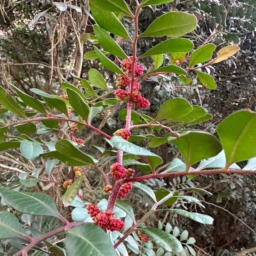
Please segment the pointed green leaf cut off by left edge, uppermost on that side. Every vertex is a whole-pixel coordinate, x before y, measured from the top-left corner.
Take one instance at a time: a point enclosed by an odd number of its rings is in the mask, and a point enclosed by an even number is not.
[[[20,107],[20,105],[17,104],[15,99],[12,98],[12,96],[6,93],[2,86],[0,86],[0,104],[2,104],[9,111],[27,119],[27,116]]]

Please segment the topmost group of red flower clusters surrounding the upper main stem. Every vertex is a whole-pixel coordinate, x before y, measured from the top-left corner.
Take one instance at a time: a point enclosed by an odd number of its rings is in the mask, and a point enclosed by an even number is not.
[[[125,59],[122,61],[122,70],[125,72],[126,76],[131,76],[131,67],[133,60],[133,57],[129,57],[128,59]],[[138,60],[135,61],[135,67],[134,67],[134,73],[135,76],[142,76],[144,71],[143,64],[138,64]],[[125,100],[129,96],[130,91],[130,79],[128,79],[126,76],[119,76],[119,81],[117,82],[116,86],[119,88],[115,91],[116,97],[119,100]],[[148,99],[141,96],[139,90],[141,89],[141,85],[137,82],[137,79],[135,79],[133,84],[133,100],[137,108],[148,108],[150,106],[150,102]]]

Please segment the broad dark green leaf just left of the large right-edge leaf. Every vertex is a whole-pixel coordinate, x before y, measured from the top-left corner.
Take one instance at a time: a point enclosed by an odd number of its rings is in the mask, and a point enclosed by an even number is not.
[[[179,148],[187,169],[200,160],[214,157],[222,150],[221,143],[214,135],[202,131],[186,131],[171,142]]]

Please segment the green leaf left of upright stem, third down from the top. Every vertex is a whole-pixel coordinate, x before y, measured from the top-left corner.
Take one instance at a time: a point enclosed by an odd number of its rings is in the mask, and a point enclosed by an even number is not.
[[[102,29],[98,25],[94,25],[93,31],[103,49],[118,57],[128,58],[128,56],[125,54],[122,48],[104,29]]]

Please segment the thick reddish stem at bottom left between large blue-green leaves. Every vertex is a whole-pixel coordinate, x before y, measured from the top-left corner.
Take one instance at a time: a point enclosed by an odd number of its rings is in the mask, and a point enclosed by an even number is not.
[[[49,233],[44,234],[43,236],[39,236],[38,238],[31,238],[31,242],[24,247],[22,250],[18,251],[15,253],[13,256],[22,256],[22,255],[27,255],[27,252],[31,250],[36,244],[40,243],[41,241],[44,241],[45,239],[54,236],[58,233],[61,233],[63,231],[69,230],[72,227],[79,226],[81,224],[85,224],[86,222],[69,222],[63,227],[59,227],[55,230],[50,231]]]

